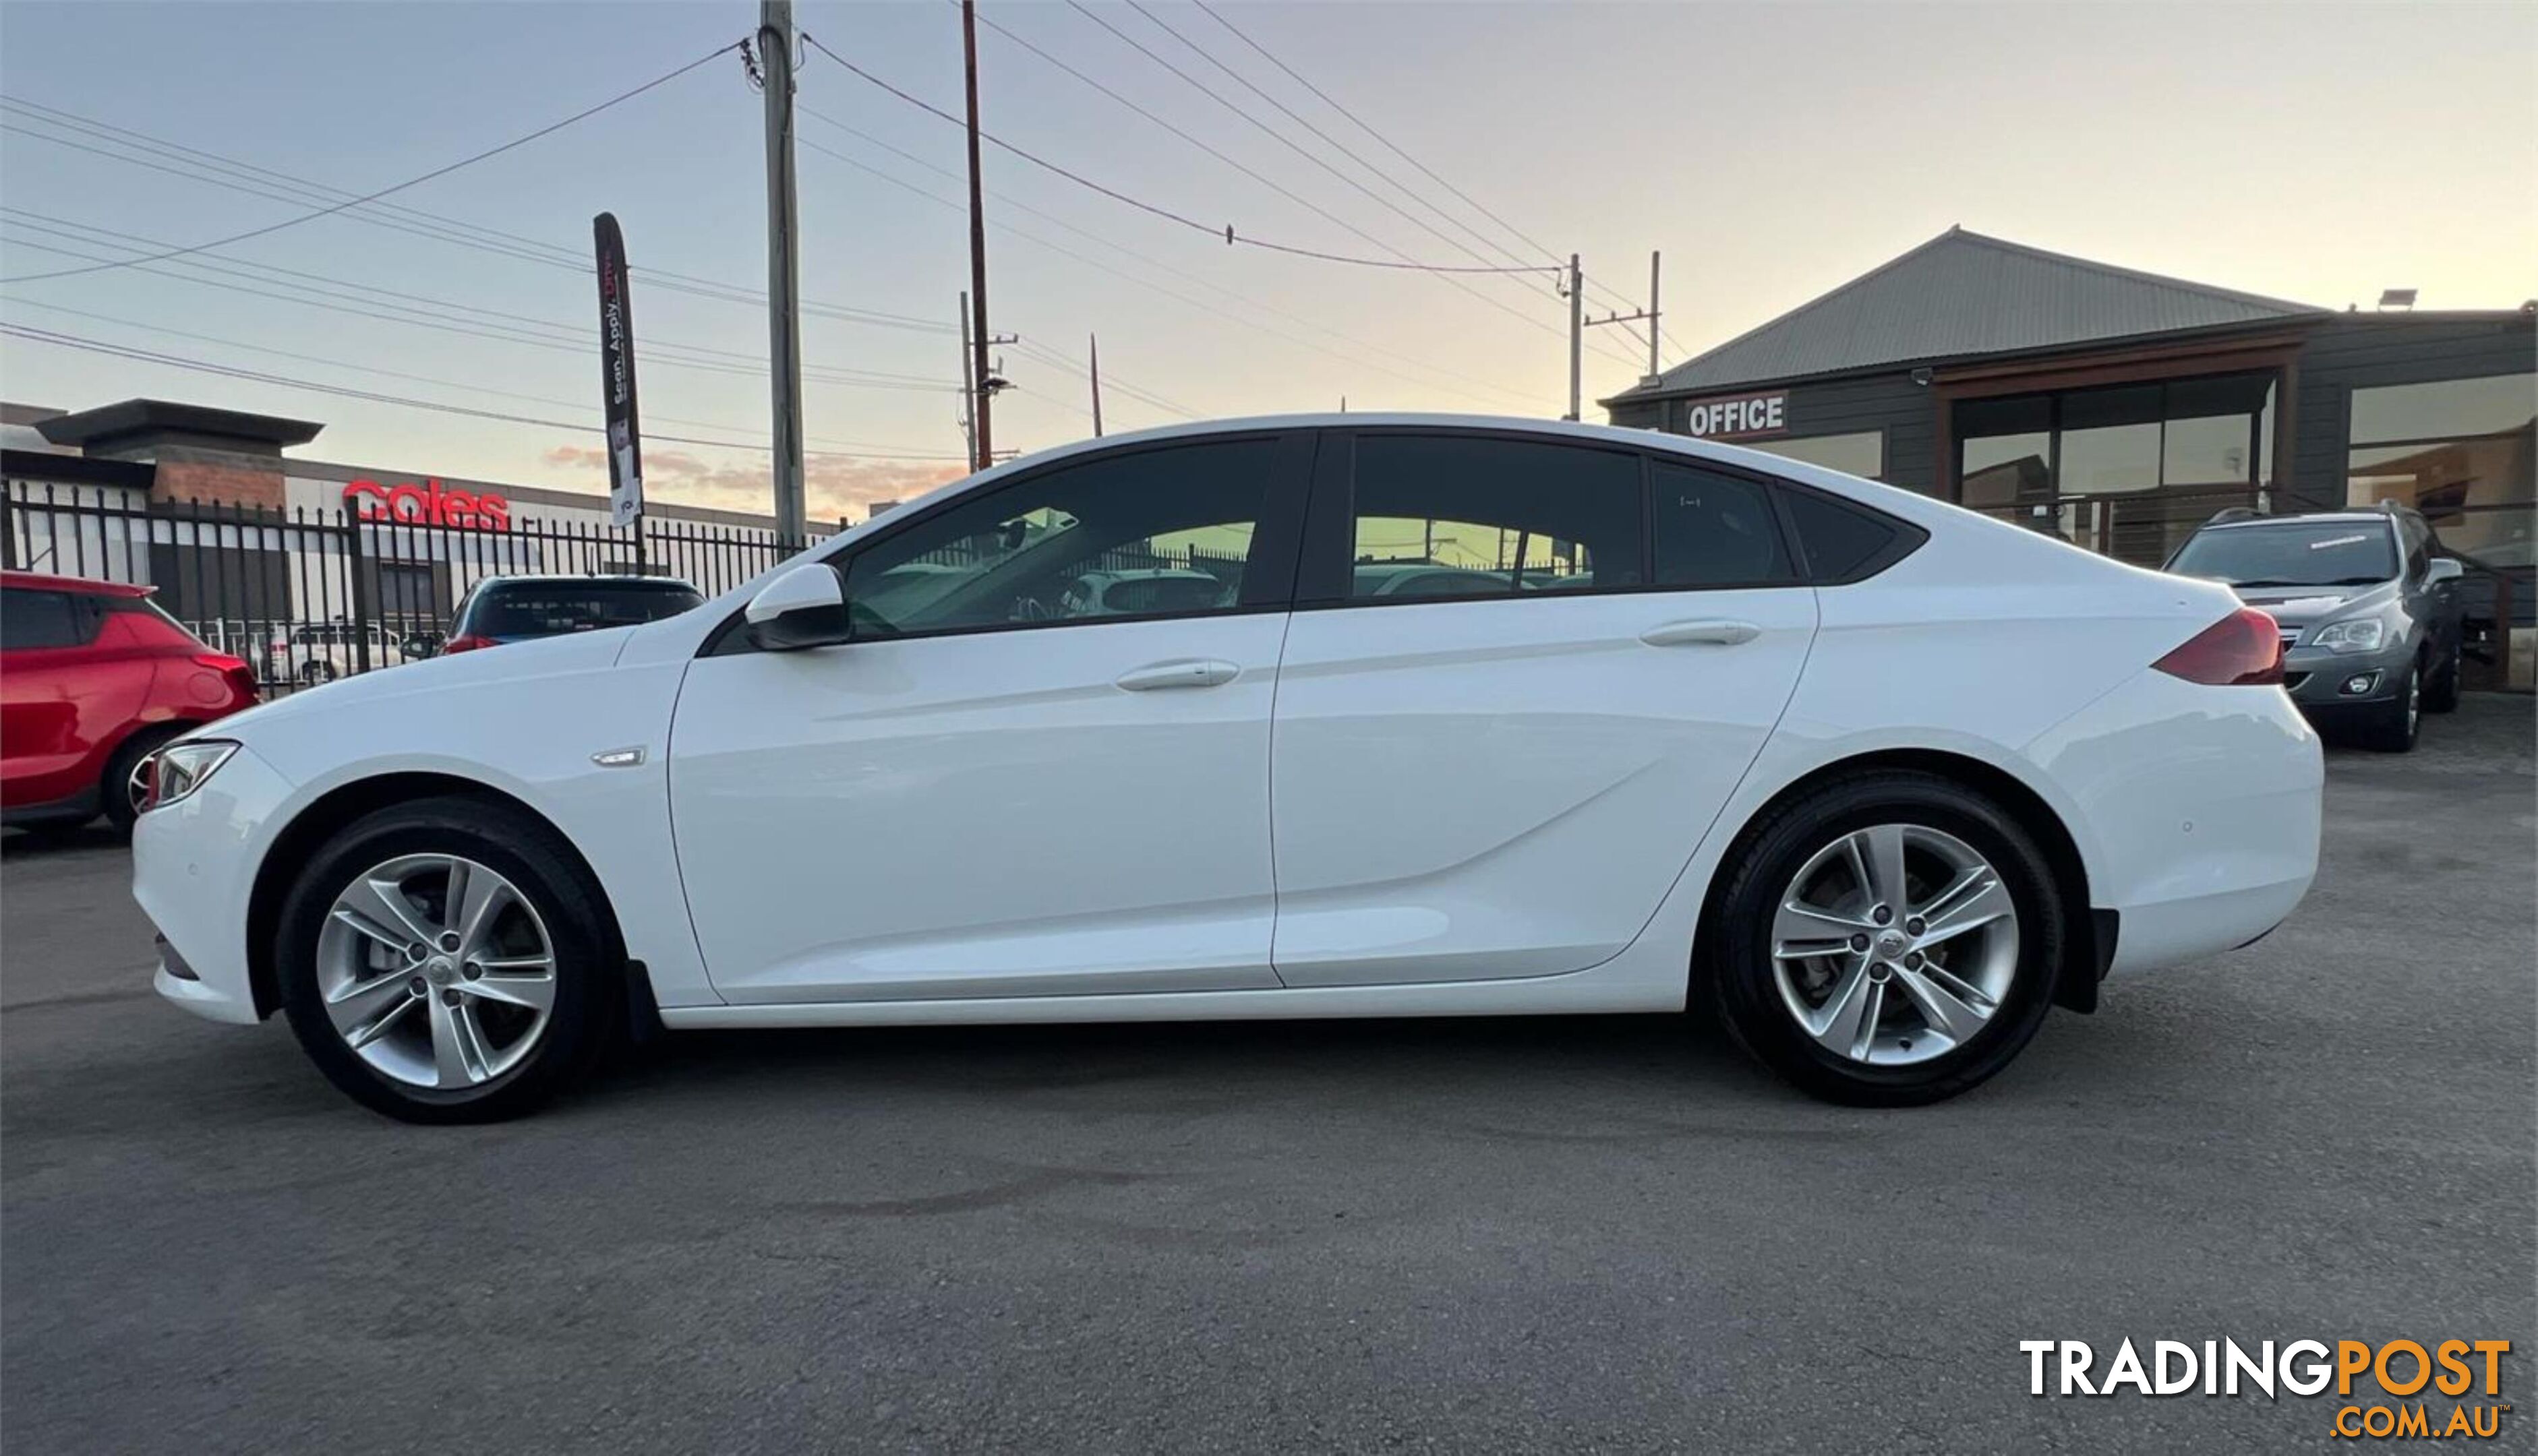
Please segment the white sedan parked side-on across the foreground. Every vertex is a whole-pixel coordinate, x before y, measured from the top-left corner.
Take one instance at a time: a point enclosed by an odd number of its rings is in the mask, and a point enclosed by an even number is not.
[[[1129,558],[1228,586],[1068,594]],[[1053,449],[667,621],[226,718],[135,893],[160,994],[416,1121],[655,1017],[1688,1004],[1919,1103],[2272,931],[2320,781],[2221,586],[1733,446],[1348,413]]]

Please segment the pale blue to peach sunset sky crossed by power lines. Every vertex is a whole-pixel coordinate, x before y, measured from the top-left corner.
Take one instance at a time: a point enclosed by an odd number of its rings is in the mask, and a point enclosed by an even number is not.
[[[2528,3],[1226,3],[1216,13],[1383,140],[1175,0],[1145,10],[990,0],[980,15],[1190,140],[995,28],[980,38],[985,124],[1094,183],[1244,236],[1459,266],[1579,251],[1596,312],[1642,302],[1647,254],[1662,249],[1665,363],[1949,223],[2325,307],[2370,307],[2383,287],[2421,289],[2426,309],[2538,297],[2538,5]],[[799,23],[886,81],[959,109],[949,0],[812,0]],[[0,276],[86,264],[46,249],[122,259],[310,211],[249,195],[241,180],[383,188],[754,25],[754,0],[5,3]],[[805,320],[805,365],[817,375],[805,391],[820,452],[812,507],[835,515],[957,469],[962,137],[817,53],[799,104],[817,112],[799,122],[802,294],[883,315]],[[213,175],[201,157],[160,150],[170,142],[269,172]],[[1553,416],[1566,406],[1566,304],[1548,271],[1447,279],[1228,249],[995,150],[987,188],[995,327],[1023,335],[1003,350],[1020,388],[1000,403],[1000,446],[1089,434],[1079,368],[1089,332],[1114,386],[1104,398],[1114,431],[1335,408],[1343,396],[1350,408]],[[548,327],[589,335],[594,287],[586,271],[523,254],[553,246],[586,259],[591,216],[607,208],[634,264],[652,492],[764,507],[766,454],[739,449],[766,439],[766,383],[751,373],[766,348],[764,307],[647,279],[667,269],[764,289],[759,96],[739,58],[391,200],[518,241],[459,246],[429,236],[444,223],[426,218],[343,213],[155,271],[13,282],[0,320],[556,424],[335,398],[23,337],[0,340],[0,398],[86,408],[157,396],[289,413],[327,421],[299,452],[320,459],[604,490],[599,436],[558,429],[596,424],[596,345],[556,348],[571,335]],[[363,312],[312,307],[310,289]],[[1596,393],[1642,368],[1645,345],[1619,327],[1591,330],[1589,419],[1601,416]]]

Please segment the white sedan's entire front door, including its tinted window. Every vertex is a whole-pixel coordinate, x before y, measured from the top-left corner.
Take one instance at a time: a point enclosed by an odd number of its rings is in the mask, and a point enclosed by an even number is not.
[[[843,647],[700,657],[670,809],[716,989],[1274,987],[1269,708],[1312,449],[1023,472],[832,563]]]

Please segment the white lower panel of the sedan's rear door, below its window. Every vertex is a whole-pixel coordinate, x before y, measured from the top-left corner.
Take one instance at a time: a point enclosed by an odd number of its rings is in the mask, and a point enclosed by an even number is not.
[[[1706,629],[1645,642],[1685,621]],[[1812,637],[1805,586],[1299,611],[1272,776],[1279,979],[1614,956],[1754,764]]]

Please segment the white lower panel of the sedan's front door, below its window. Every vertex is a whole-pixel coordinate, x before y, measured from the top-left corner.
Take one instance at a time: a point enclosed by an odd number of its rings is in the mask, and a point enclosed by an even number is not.
[[[698,660],[670,807],[713,987],[731,1002],[1274,987],[1284,624]],[[1124,687],[1193,662],[1211,682]]]

